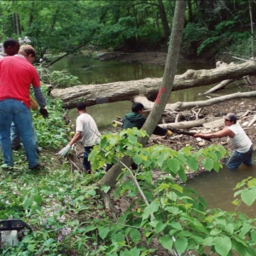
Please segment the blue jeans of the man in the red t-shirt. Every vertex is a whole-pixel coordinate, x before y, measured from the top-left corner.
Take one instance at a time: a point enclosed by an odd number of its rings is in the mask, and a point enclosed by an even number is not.
[[[3,164],[14,166],[10,143],[10,126],[15,122],[25,148],[28,167],[38,166],[36,143],[32,140],[31,112],[23,102],[15,99],[0,101],[0,139],[2,144]]]

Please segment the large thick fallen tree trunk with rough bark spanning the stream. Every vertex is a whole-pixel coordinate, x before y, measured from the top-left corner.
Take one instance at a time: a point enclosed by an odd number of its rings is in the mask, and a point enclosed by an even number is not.
[[[183,90],[214,84],[226,79],[241,79],[245,75],[256,74],[256,62],[247,61],[227,67],[188,70],[176,75],[172,90]],[[144,95],[154,101],[162,79],[142,79],[108,84],[77,85],[66,89],[54,89],[51,96],[60,98],[65,108],[75,108],[76,102],[84,101],[87,106],[96,104],[130,101],[134,96]]]

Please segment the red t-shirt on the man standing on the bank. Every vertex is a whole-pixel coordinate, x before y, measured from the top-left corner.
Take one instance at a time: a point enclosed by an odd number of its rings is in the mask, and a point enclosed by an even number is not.
[[[32,64],[20,56],[0,60],[0,101],[15,99],[29,105],[29,87],[40,86],[38,72]]]

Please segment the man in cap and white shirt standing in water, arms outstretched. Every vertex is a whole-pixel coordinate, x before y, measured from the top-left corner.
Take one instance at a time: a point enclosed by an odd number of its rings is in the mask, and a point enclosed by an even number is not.
[[[236,170],[241,163],[252,166],[252,154],[253,154],[253,143],[247,137],[247,134],[241,126],[236,123],[236,114],[228,113],[224,117],[225,127],[221,131],[207,134],[195,133],[194,137],[201,137],[205,139],[211,139],[215,137],[229,137],[230,142],[235,149],[230,155],[230,159],[227,162],[227,166],[230,170]]]

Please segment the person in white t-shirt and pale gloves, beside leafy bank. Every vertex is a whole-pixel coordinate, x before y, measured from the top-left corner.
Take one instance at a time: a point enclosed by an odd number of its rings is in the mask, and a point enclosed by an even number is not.
[[[88,160],[88,155],[90,154],[91,148],[100,143],[101,133],[98,131],[95,120],[90,116],[90,114],[86,113],[86,105],[84,102],[79,102],[77,104],[77,111],[79,113],[79,117],[76,120],[76,134],[67,146],[62,148],[57,154],[64,157],[71,146],[79,141],[79,139],[82,139],[84,146],[83,166],[85,172],[90,174],[90,161]]]

